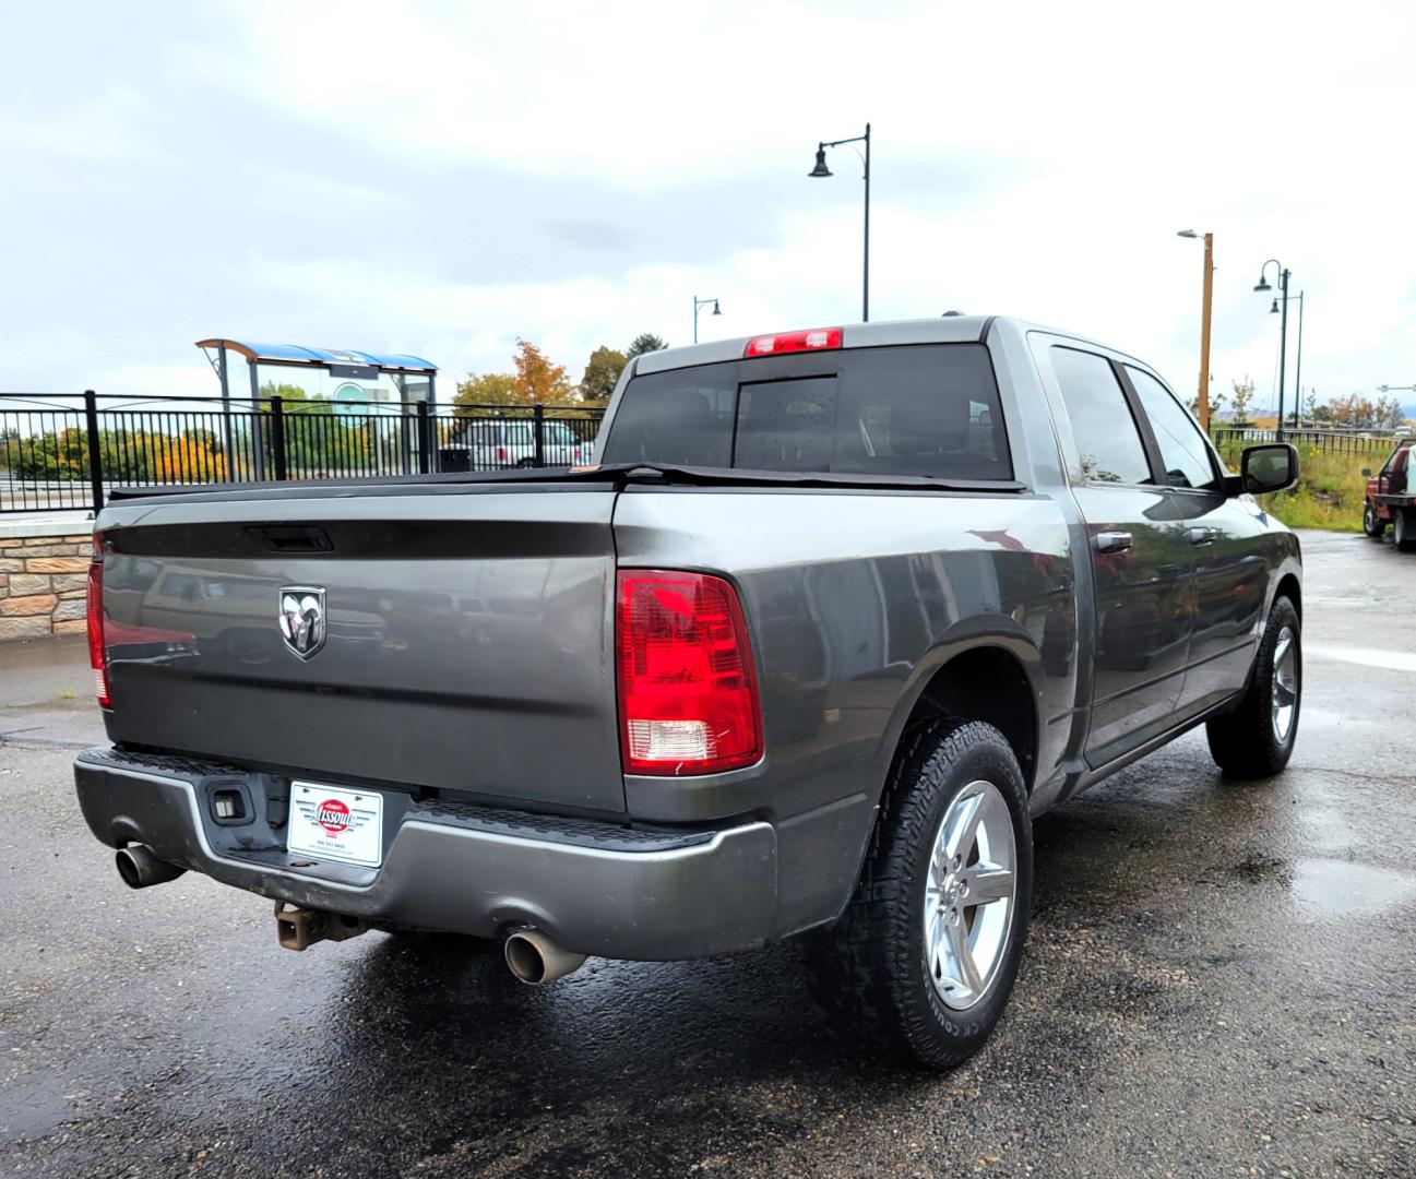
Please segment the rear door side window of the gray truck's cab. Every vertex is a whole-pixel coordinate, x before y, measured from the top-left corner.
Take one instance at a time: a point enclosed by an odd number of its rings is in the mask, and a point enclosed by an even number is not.
[[[1049,354],[1082,474],[1095,483],[1151,483],[1146,446],[1112,362],[1061,345]]]

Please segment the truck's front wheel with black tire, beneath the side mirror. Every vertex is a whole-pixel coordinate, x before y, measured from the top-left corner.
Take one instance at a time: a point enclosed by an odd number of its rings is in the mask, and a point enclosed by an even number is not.
[[[1269,611],[1253,677],[1238,708],[1216,716],[1205,727],[1209,753],[1228,774],[1266,778],[1293,756],[1303,703],[1303,644],[1298,611],[1280,597]]]

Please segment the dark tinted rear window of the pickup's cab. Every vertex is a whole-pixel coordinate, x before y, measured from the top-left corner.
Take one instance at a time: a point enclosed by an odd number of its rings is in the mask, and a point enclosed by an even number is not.
[[[599,461],[1012,478],[983,344],[845,348],[636,376]]]

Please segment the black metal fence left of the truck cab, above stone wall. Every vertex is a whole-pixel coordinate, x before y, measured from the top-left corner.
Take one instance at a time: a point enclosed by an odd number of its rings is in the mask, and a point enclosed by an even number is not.
[[[96,511],[115,485],[566,467],[590,461],[603,413],[0,393],[0,512]]]

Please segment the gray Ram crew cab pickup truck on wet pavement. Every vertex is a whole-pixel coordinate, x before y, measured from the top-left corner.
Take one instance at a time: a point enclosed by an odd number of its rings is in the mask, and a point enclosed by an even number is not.
[[[1022,951],[1031,817],[1206,725],[1287,763],[1297,539],[1147,365],[1007,318],[639,357],[598,467],[115,497],[75,766],[135,886],[583,955],[807,938],[947,1067]]]

